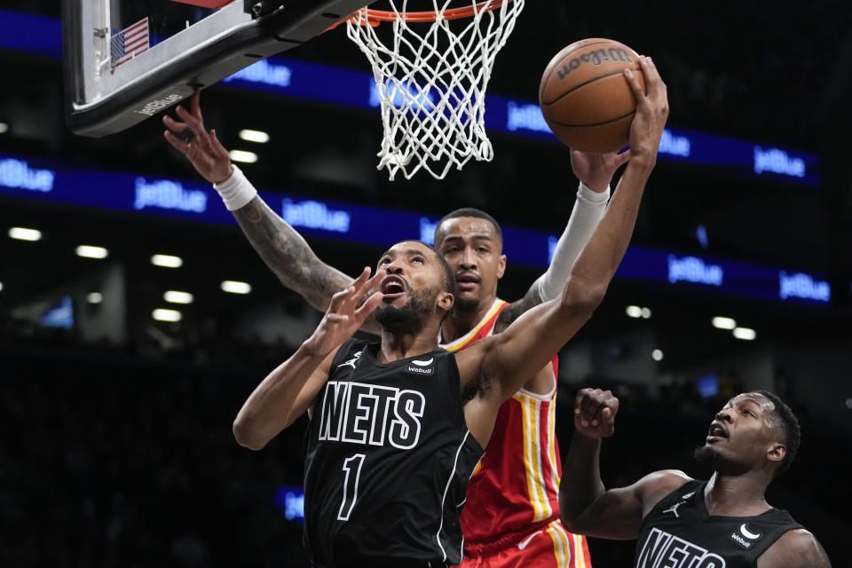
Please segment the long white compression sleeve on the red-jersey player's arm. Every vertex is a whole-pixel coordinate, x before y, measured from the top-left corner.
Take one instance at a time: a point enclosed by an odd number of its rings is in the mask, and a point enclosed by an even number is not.
[[[568,226],[556,242],[548,271],[533,283],[533,287],[538,288],[539,295],[545,302],[556,298],[562,292],[565,280],[568,280],[571,274],[574,261],[577,260],[577,256],[580,256],[580,251],[586,247],[592,233],[595,233],[597,224],[604,217],[606,203],[609,200],[609,186],[603,193],[597,193],[580,183],[577,201],[568,219]]]

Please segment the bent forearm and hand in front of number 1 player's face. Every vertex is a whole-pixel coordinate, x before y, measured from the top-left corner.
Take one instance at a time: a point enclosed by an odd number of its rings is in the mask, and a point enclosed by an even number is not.
[[[337,348],[382,301],[382,294],[375,292],[359,307],[375,285],[375,277],[369,276],[370,269],[365,268],[348,288],[335,294],[313,335],[257,385],[233,422],[233,435],[241,446],[263,448],[311,406],[328,380]]]

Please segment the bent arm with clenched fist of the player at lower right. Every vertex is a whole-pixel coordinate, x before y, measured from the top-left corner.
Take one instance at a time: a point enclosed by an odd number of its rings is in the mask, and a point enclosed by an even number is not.
[[[609,390],[583,389],[574,398],[574,435],[563,465],[559,513],[572,533],[604,539],[635,539],[642,519],[689,477],[657,471],[634,485],[607,490],[601,481],[601,439],[615,432],[619,399]]]

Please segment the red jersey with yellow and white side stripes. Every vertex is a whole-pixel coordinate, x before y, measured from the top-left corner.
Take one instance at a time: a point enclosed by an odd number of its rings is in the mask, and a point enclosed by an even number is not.
[[[458,351],[492,335],[500,312],[508,305],[495,299],[469,333],[441,347]],[[485,455],[470,478],[461,511],[461,533],[465,548],[487,556],[501,547],[523,544],[527,535],[538,531],[553,540],[550,557],[555,555],[556,563],[548,565],[590,568],[585,538],[567,533],[558,521],[562,461],[554,433],[556,358],[552,370],[554,388],[550,393],[521,389],[500,407]]]

